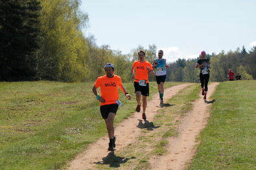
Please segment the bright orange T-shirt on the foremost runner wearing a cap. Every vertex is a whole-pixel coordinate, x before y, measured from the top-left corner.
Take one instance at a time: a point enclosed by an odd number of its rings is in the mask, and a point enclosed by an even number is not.
[[[106,101],[100,105],[111,105],[116,104],[116,100],[119,99],[118,87],[121,88],[122,81],[119,76],[113,76],[113,78],[108,78],[105,76],[100,76],[96,83],[95,87],[100,87],[100,96]]]

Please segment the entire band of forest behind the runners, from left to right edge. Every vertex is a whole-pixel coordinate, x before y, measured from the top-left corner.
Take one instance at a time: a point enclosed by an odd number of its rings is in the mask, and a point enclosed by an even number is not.
[[[0,81],[95,81],[105,74],[104,64],[113,63],[115,74],[123,82],[132,82],[130,70],[140,49],[145,50],[146,61],[157,58],[154,44],[138,45],[129,54],[109,45],[99,47],[93,35],[84,34],[89,17],[80,5],[80,0],[0,1]],[[199,82],[199,69],[195,69],[199,58],[169,63],[166,81]],[[229,69],[236,75],[240,72],[242,80],[256,79],[256,47],[206,58],[211,61],[210,81],[227,81]]]

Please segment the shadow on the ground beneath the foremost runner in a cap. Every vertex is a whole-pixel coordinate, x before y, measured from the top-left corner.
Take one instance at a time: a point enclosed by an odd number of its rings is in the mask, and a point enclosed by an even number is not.
[[[102,161],[94,162],[94,164],[110,165],[110,167],[120,167],[120,164],[124,164],[130,159],[135,159],[135,157],[132,156],[131,158],[124,158],[121,156],[115,156],[115,153],[111,151],[108,153],[108,156],[102,158]]]

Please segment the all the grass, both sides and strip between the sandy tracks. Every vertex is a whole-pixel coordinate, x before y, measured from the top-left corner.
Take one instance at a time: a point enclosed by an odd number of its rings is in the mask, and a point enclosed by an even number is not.
[[[166,82],[165,87],[177,85]],[[0,167],[1,169],[61,169],[89,143],[106,135],[106,125],[99,112],[99,101],[91,91],[93,82],[59,83],[52,81],[0,83]],[[132,83],[124,83],[132,100],[120,93],[123,105],[115,118],[115,125],[128,118],[136,105]],[[227,81],[220,83],[211,99],[209,125],[198,138],[202,143],[190,169],[256,169],[255,157],[255,81]],[[192,90],[192,89],[197,90]],[[161,110],[155,125],[163,123],[165,112],[189,111],[200,87],[189,87],[172,99],[175,110]],[[157,92],[150,83],[150,94]],[[191,95],[192,94],[192,95]],[[150,99],[150,98],[149,98]],[[185,103],[187,104],[185,104]],[[172,107],[174,109],[174,107]],[[176,112],[175,112],[176,111]],[[166,115],[165,115],[166,116]],[[172,116],[169,118],[172,120]],[[172,124],[165,123],[165,126]],[[165,136],[175,131],[154,134],[162,138],[152,152],[141,155],[139,162],[131,159],[126,167],[136,163],[135,169],[146,164],[153,154],[164,154]],[[141,137],[148,142],[148,136]],[[130,155],[131,153],[120,153]]]

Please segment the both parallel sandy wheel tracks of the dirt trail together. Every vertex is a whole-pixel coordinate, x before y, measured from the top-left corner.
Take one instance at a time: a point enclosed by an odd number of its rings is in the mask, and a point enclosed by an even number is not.
[[[191,84],[186,83],[165,89],[165,100],[172,98],[172,96],[188,85]],[[218,83],[209,85],[211,90],[207,94],[207,98],[211,96],[216,85]],[[198,142],[196,142],[195,138],[207,124],[207,117],[209,116],[207,107],[210,104],[211,101],[203,100],[202,98],[194,102],[194,109],[188,112],[187,116],[184,116],[178,125],[178,137],[169,139],[170,146],[168,150],[170,154],[149,160],[153,169],[183,169],[185,167],[185,163],[189,162],[196,152],[194,145]],[[159,107],[159,94],[155,94],[152,100],[148,101],[148,107],[146,108],[148,122],[153,122],[158,109],[161,109]],[[135,139],[141,134],[141,129],[137,127],[138,120],[141,120],[141,112],[135,112],[133,116],[130,116],[115,128],[117,149],[121,149],[131,142],[136,142]],[[76,156],[75,160],[69,164],[69,170],[94,169],[97,166],[95,162],[102,161],[102,158],[108,155],[108,142],[108,136],[104,136],[97,143],[89,145],[84,153]]]

